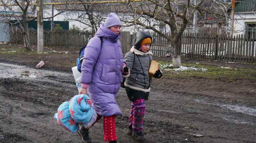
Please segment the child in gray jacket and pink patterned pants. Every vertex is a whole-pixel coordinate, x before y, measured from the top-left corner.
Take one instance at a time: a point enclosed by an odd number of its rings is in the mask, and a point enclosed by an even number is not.
[[[131,102],[129,118],[129,132],[136,140],[145,140],[142,133],[143,117],[145,115],[145,100],[149,97],[152,79],[149,68],[152,61],[150,46],[152,37],[144,31],[136,34],[134,46],[125,54],[124,61],[129,68],[130,75],[125,80],[124,86]],[[156,71],[155,78],[161,78],[162,72]]]

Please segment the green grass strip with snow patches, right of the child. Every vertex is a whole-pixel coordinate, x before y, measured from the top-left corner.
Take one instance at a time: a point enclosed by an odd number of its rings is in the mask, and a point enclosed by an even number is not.
[[[159,65],[170,65],[170,62],[158,61]],[[250,79],[256,80],[256,69],[248,68],[221,68],[218,66],[205,65],[205,64],[189,64],[182,63],[182,66],[185,67],[194,67],[202,68],[203,70],[183,70],[175,71],[173,67],[167,66],[166,68],[161,69],[164,72],[166,77],[170,78],[206,78],[206,79],[215,79],[221,81],[232,82],[237,79]],[[168,69],[168,70],[166,70]]]

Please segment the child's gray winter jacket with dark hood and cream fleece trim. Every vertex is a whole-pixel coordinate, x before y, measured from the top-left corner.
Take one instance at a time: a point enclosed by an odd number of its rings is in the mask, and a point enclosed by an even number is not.
[[[131,89],[149,92],[152,79],[149,77],[149,67],[152,61],[152,52],[144,53],[140,50],[140,43],[144,38],[152,37],[144,32],[137,33],[133,47],[125,54],[126,62],[130,75],[126,78],[124,85]]]

